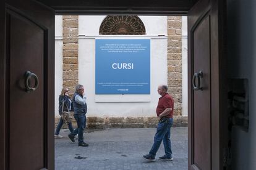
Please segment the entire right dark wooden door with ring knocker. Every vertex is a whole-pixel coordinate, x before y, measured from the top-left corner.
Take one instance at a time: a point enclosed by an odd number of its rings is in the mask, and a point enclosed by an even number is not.
[[[223,5],[200,0],[188,15],[189,169],[223,169]]]

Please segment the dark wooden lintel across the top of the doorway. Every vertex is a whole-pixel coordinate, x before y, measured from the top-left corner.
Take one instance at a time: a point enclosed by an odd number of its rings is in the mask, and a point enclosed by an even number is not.
[[[197,0],[129,0],[129,1],[69,1],[69,0],[38,0],[56,10],[56,14],[153,14],[174,15],[187,14]],[[79,10],[77,10],[79,9]],[[96,10],[95,10],[96,9]]]

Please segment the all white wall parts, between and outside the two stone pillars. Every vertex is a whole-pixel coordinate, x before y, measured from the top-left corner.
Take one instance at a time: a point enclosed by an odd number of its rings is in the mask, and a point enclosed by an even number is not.
[[[79,83],[88,97],[88,116],[155,116],[158,84],[167,84],[167,17],[139,16],[146,35],[100,36],[106,16],[79,16]],[[55,115],[62,89],[62,16],[56,16]],[[95,95],[95,39],[151,39],[150,95]],[[187,17],[182,17],[182,115],[187,115]]]

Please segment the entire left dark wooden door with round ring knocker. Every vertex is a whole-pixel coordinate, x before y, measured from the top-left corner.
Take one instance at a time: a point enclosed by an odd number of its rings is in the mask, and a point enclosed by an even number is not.
[[[35,1],[1,11],[0,169],[54,169],[54,11]]]

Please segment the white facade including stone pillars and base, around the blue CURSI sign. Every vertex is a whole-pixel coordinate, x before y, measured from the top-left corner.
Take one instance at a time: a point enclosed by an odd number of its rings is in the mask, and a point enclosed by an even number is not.
[[[174,126],[187,126],[186,17],[136,17],[139,19],[124,26],[127,29],[114,30],[124,22],[100,15],[56,16],[56,122],[59,119],[58,95],[62,87],[69,87],[70,94],[73,94],[75,85],[83,84],[89,128],[155,127],[155,108],[160,97],[156,89],[159,84],[168,84],[168,92],[175,102]],[[96,42],[111,42],[113,39],[150,41],[150,88],[147,94],[96,94]]]

